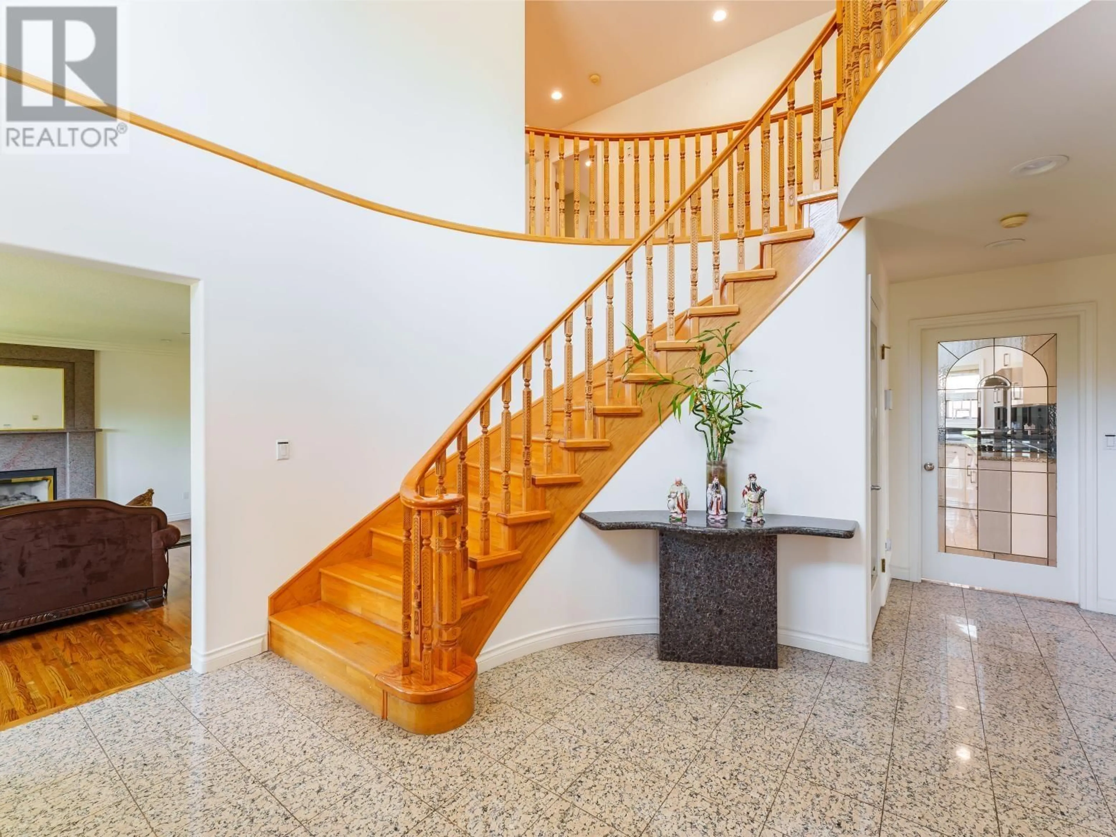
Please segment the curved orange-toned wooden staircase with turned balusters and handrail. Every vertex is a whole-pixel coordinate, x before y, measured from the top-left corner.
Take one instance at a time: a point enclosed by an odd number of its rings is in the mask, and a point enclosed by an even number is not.
[[[732,346],[739,346],[844,235],[846,228],[837,221],[836,158],[830,150],[822,160],[820,127],[812,160],[807,156],[812,176],[804,171],[800,137],[790,132],[785,148],[778,131],[778,163],[771,165],[771,113],[780,104],[796,113],[796,81],[804,77],[808,84],[812,71],[820,116],[821,50],[836,32],[830,20],[735,141],[714,154],[663,215],[652,217],[636,243],[462,413],[407,475],[400,494],[270,597],[272,651],[407,730],[441,732],[469,719],[475,658],[493,628],[578,513],[662,421],[657,396],[646,403],[639,397],[655,375],[632,363],[629,341],[616,348],[615,298],[623,299],[623,324],[633,330],[634,309],[643,302],[643,341],[654,347],[660,368],[675,369],[695,350],[691,338],[703,329],[731,326]],[[820,126],[820,118],[815,124]],[[760,157],[757,206],[750,200],[749,154],[754,151]],[[737,269],[723,275],[722,177],[737,177],[740,204],[734,217],[731,202],[728,212]],[[713,215],[712,287],[704,298],[699,297],[699,237],[675,240],[686,229],[676,229],[686,210],[694,231],[701,212]],[[761,234],[760,263],[745,268],[744,239],[753,214],[763,233],[772,225],[786,229]],[[679,242],[689,250],[690,271],[686,304],[675,310]],[[656,247],[660,253],[666,250],[665,282],[656,270],[664,261],[656,263]],[[646,280],[642,299],[635,292],[636,264]],[[575,315],[584,316],[580,365]],[[559,369],[564,379],[556,383]],[[513,387],[517,377],[520,385]],[[522,407],[512,412],[516,389]]]

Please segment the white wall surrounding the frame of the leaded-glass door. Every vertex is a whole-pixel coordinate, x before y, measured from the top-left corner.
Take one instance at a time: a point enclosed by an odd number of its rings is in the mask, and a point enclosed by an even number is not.
[[[1089,552],[1097,556],[1095,583],[1086,578],[1087,588],[1095,589],[1096,602],[1088,603],[1096,609],[1116,613],[1116,519],[1108,513],[1116,508],[1116,451],[1104,446],[1104,434],[1116,433],[1116,256],[1101,256],[1071,261],[1031,264],[1007,270],[896,282],[891,286],[891,328],[894,338],[892,366],[907,369],[917,345],[910,344],[910,323],[924,317],[944,317],[959,314],[1003,311],[1047,306],[1093,302],[1097,310],[1097,345],[1094,357],[1099,360],[1096,373],[1096,483],[1097,525],[1095,532],[1087,532],[1080,558],[1088,562]],[[1083,376],[1085,372],[1083,369]],[[908,450],[910,412],[907,401],[917,379],[905,375],[892,378],[895,391],[895,411],[892,415],[892,537],[895,571],[906,577],[912,566],[911,550],[917,545],[912,540],[910,521],[917,521],[917,498],[910,494],[910,469],[917,468]],[[917,397],[917,393],[914,394]],[[1086,469],[1089,463],[1084,463]]]

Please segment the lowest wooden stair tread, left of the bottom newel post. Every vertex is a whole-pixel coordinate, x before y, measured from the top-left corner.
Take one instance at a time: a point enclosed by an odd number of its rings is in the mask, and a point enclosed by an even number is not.
[[[369,676],[398,665],[403,656],[403,637],[397,633],[325,602],[272,614],[269,622]]]

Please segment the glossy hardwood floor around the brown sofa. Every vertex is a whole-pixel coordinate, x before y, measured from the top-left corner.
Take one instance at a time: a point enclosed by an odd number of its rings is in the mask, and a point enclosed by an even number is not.
[[[172,549],[170,562],[162,607],[136,603],[0,637],[0,730],[187,667],[190,548]]]

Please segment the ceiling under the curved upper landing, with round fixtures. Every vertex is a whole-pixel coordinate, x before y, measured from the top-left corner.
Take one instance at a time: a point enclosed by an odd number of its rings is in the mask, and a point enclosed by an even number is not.
[[[1093,2],[1047,30],[902,136],[845,210],[878,219],[892,281],[1116,251],[1116,2]],[[1018,163],[1066,154],[1036,177]],[[1004,215],[1027,212],[1016,230]],[[984,244],[1022,238],[1016,247]]]

